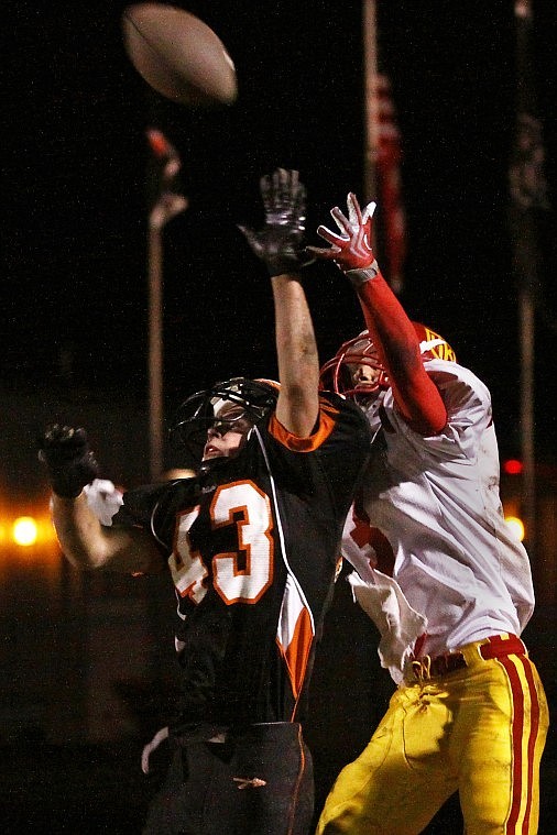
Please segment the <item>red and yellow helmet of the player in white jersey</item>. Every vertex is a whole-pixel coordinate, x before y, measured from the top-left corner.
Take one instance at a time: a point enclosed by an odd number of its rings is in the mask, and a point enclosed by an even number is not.
[[[419,339],[422,359],[448,360],[456,362],[455,351],[449,343],[421,322],[412,322],[416,336]],[[368,365],[379,372],[373,382],[357,381],[353,369],[359,365]],[[369,397],[376,392],[389,388],[389,377],[383,366],[378,349],[373,344],[369,331],[363,330],[354,339],[343,342],[335,356],[325,363],[320,371],[320,387],[329,392],[337,392],[345,397],[359,399]]]

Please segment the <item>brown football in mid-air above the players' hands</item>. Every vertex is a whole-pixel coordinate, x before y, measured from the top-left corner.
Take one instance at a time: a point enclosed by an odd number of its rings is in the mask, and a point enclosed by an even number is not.
[[[236,100],[232,59],[195,14],[174,6],[135,3],[122,13],[122,34],[138,73],[167,99],[186,106]]]

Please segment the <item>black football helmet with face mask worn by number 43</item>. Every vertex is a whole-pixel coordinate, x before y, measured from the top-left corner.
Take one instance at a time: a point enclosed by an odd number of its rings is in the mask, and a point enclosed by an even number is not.
[[[272,380],[232,377],[187,397],[176,410],[171,436],[176,436],[199,462],[210,427],[227,431],[240,418],[255,425],[276,407],[278,383]],[[233,418],[219,419],[225,403],[236,404],[241,411]]]

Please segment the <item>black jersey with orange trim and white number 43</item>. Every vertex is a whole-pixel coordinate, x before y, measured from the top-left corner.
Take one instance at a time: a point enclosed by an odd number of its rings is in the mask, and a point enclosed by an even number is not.
[[[327,393],[310,438],[271,415],[237,458],[124,494],[114,524],[155,536],[176,589],[178,725],[301,717],[368,449],[361,410]]]

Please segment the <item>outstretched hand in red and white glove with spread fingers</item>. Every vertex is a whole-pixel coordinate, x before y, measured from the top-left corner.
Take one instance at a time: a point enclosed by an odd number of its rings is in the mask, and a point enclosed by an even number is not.
[[[374,202],[368,204],[363,213],[360,204],[352,191],[347,197],[348,218],[338,206],[330,210],[331,217],[341,234],[331,232],[320,226],[317,234],[331,245],[329,249],[306,246],[316,257],[334,261],[342,272],[364,270],[373,264],[375,256],[371,246],[372,218],[375,211]]]

